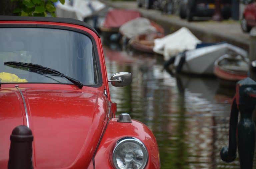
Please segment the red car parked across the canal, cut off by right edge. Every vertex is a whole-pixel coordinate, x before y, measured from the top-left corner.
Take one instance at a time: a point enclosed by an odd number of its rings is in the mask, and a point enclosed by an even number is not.
[[[256,26],[256,2],[252,0],[244,10],[241,28],[244,32],[250,32],[254,26]]]

